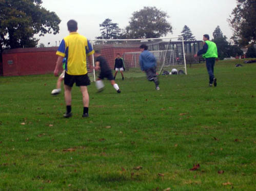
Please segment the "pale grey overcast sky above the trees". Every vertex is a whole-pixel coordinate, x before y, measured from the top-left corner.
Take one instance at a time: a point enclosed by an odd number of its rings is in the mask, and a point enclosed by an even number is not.
[[[67,21],[75,19],[78,22],[78,33],[88,39],[100,36],[100,23],[106,18],[125,28],[134,11],[139,11],[145,6],[155,6],[165,11],[170,17],[173,33],[168,36],[181,35],[181,31],[187,25],[196,40],[202,40],[203,34],[212,33],[219,25],[223,34],[232,36],[227,19],[232,9],[237,5],[235,0],[43,0],[42,6],[55,12],[62,20],[60,33],[47,34],[40,37],[39,43],[50,42],[49,46],[59,45],[59,41],[69,34]]]

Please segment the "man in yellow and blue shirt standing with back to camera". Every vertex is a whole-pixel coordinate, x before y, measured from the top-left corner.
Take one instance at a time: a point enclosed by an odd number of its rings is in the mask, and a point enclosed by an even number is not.
[[[90,79],[88,77],[86,57],[88,57],[89,67],[92,68],[92,55],[94,51],[89,40],[76,32],[77,22],[75,20],[69,20],[67,26],[70,34],[62,40],[56,52],[58,58],[54,69],[54,76],[58,76],[62,66],[62,60],[66,57],[64,91],[67,111],[64,117],[68,118],[72,116],[71,90],[74,83],[80,87],[83,94],[84,111],[82,117],[89,117],[89,94],[87,86],[90,85]]]

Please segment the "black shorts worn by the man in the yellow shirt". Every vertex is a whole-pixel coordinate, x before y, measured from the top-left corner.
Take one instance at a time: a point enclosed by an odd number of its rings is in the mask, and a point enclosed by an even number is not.
[[[91,84],[88,74],[85,75],[69,75],[65,72],[64,84],[72,87],[75,83],[76,86],[88,86]]]

